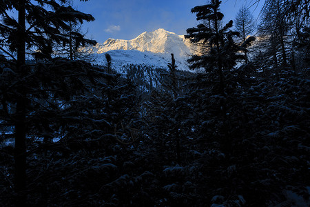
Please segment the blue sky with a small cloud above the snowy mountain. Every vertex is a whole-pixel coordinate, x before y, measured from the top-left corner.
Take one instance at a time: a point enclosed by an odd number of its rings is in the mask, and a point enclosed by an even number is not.
[[[252,0],[253,1],[253,0]],[[90,0],[74,2],[74,8],[90,13],[96,19],[85,23],[87,35],[99,43],[108,38],[133,39],[142,32],[164,28],[176,34],[186,34],[186,29],[196,26],[196,16],[190,10],[204,5],[207,0]],[[251,0],[223,0],[220,8],[225,14],[224,23],[235,19],[242,4]],[[257,17],[261,4],[250,8]]]

